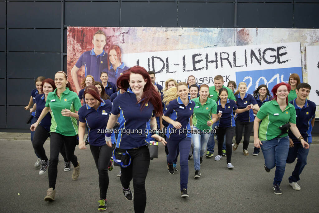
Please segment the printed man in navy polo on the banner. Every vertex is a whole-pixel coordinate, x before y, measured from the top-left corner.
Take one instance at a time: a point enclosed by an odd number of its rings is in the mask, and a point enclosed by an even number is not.
[[[92,75],[94,79],[99,79],[101,72],[108,72],[108,54],[104,51],[106,44],[105,33],[102,30],[98,30],[93,35],[92,43],[94,48],[84,52],[71,69],[72,80],[77,92],[81,90],[77,72],[82,66],[85,69],[85,76]]]

